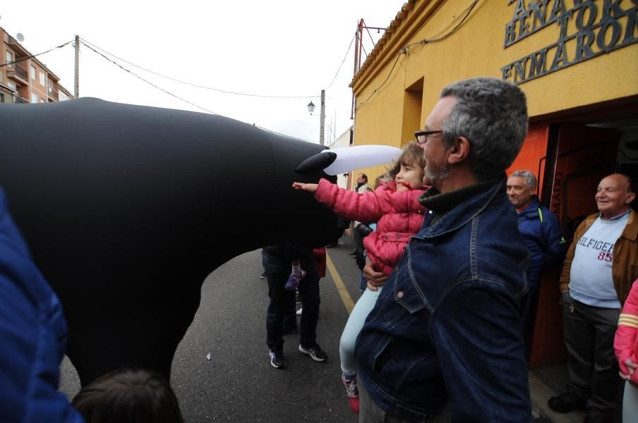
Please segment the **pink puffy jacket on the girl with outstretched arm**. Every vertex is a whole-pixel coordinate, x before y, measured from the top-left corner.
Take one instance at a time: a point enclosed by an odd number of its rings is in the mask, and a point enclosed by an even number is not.
[[[322,179],[315,198],[336,214],[351,220],[377,222],[377,229],[363,238],[375,269],[389,275],[410,237],[423,224],[425,207],[419,203],[423,190],[397,192],[397,185],[384,183],[375,192],[344,190]]]

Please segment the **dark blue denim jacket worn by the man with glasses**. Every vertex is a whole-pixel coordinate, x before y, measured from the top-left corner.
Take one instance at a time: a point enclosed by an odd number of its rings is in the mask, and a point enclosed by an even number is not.
[[[449,396],[454,422],[531,422],[520,331],[529,252],[505,183],[423,201],[440,218],[426,216],[356,343],[358,377],[386,412],[422,422]],[[462,200],[444,210],[446,196]]]

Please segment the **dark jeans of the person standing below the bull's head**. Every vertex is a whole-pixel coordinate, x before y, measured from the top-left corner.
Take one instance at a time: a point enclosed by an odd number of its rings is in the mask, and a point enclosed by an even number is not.
[[[284,345],[284,319],[292,311],[295,312],[295,292],[284,288],[290,276],[292,263],[274,255],[268,255],[268,296],[270,305],[266,316],[266,343],[268,348],[279,348]],[[300,343],[311,347],[317,338],[317,321],[319,319],[319,275],[312,255],[301,259],[301,268],[306,277],[299,283],[299,294],[303,313],[300,323]]]

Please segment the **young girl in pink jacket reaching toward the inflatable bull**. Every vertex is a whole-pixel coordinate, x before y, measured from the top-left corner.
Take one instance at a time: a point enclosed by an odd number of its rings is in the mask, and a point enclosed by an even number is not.
[[[358,194],[344,190],[325,179],[314,183],[293,183],[293,188],[313,192],[315,198],[340,216],[358,221],[377,222],[376,231],[363,238],[367,260],[375,269],[389,275],[403,254],[410,237],[421,229],[425,208],[419,203],[423,194],[423,150],[411,142],[404,148],[394,166],[387,172],[389,183],[374,192]],[[350,407],[359,412],[356,388],[354,344],[368,313],[374,307],[380,290],[366,289],[350,314],[339,343],[342,381]]]

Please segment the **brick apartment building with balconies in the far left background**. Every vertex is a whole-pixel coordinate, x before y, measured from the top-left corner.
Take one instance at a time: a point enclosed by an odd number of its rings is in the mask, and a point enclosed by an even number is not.
[[[11,63],[0,68],[0,103],[45,103],[73,99],[71,92],[60,83],[60,78],[37,58],[24,59],[32,54],[0,27],[2,43],[0,63]]]

